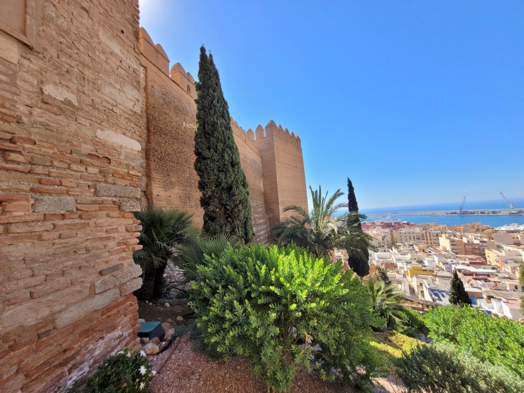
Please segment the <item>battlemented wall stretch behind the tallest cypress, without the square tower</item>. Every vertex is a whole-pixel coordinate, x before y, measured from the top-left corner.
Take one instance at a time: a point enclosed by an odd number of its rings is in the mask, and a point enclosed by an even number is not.
[[[195,110],[194,79],[180,63],[169,70],[169,58],[140,29],[141,62],[146,68],[147,93],[147,197],[163,206],[181,206],[202,225],[198,175],[194,170]],[[233,136],[249,184],[253,226],[257,243],[268,242],[262,159],[253,131],[231,119]],[[303,169],[302,169],[303,172]]]

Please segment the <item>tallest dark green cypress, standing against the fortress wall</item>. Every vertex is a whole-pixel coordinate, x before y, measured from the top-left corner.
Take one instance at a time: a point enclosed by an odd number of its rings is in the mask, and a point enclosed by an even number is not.
[[[200,48],[196,82],[195,170],[202,193],[204,231],[254,239],[247,180],[231,129],[229,107],[213,56]]]

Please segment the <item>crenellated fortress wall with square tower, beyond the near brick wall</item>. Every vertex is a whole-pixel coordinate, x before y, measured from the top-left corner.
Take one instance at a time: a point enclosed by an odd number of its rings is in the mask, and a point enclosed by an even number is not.
[[[194,79],[180,63],[169,70],[169,58],[140,28],[141,64],[146,69],[148,144],[147,198],[149,202],[181,206],[202,224],[198,175],[194,170]],[[256,242],[267,243],[269,227],[299,204],[307,209],[300,138],[270,121],[264,129],[245,131],[231,118],[235,143],[249,184]]]

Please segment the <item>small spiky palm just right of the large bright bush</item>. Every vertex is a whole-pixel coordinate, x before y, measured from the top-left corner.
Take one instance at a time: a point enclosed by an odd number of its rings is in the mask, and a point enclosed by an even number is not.
[[[403,319],[405,307],[402,305],[405,293],[396,285],[369,277],[363,281],[364,289],[369,295],[373,311],[386,320],[389,329],[403,330],[407,326]]]

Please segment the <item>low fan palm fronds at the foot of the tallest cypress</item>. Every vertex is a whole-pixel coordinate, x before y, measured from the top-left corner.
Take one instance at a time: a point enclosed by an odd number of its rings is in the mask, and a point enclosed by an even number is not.
[[[200,277],[196,266],[205,264],[206,255],[219,258],[227,247],[239,248],[243,245],[244,243],[238,237],[223,233],[215,236],[202,236],[193,242],[180,245],[178,255],[171,259],[173,265],[178,267],[184,276],[184,281],[179,285]]]

